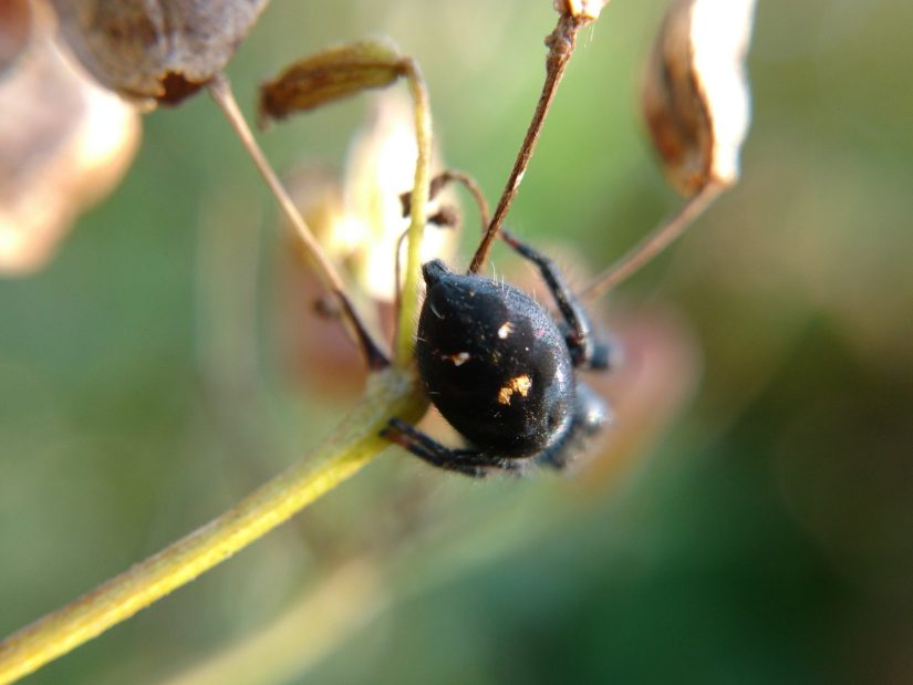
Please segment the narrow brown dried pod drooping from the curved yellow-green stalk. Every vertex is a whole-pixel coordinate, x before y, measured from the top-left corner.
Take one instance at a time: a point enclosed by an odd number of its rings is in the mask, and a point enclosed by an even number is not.
[[[260,86],[260,122],[387,86],[408,68],[408,59],[390,43],[365,41],[330,48],[295,62]]]

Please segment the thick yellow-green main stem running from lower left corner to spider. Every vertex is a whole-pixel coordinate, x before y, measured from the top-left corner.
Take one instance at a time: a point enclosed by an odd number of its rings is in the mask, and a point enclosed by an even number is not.
[[[32,673],[162,599],[269,532],[383,452],[390,417],[427,406],[397,370],[372,374],[365,396],[311,455],[157,554],[0,643],[0,684]]]

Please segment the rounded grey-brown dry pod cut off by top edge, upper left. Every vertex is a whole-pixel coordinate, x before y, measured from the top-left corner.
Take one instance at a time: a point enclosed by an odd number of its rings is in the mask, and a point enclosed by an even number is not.
[[[68,44],[100,83],[177,103],[228,63],[268,0],[52,0]]]

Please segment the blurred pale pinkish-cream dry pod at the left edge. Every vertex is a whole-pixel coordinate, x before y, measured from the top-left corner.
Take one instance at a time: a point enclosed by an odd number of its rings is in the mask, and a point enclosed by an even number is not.
[[[0,272],[43,266],[76,215],[123,176],[139,115],[84,74],[35,18],[0,81]]]

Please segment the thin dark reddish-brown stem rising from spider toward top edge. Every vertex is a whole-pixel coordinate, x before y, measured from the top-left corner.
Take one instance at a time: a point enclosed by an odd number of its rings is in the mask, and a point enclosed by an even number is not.
[[[558,91],[558,84],[561,82],[564,75],[564,69],[568,66],[568,62],[570,62],[571,55],[573,54],[577,44],[577,34],[580,29],[591,21],[592,18],[585,15],[573,17],[569,13],[561,14],[554,31],[546,39],[549,54],[548,58],[546,58],[546,82],[542,85],[542,94],[539,96],[539,103],[536,105],[536,112],[532,114],[532,121],[527,128],[526,137],[523,137],[523,143],[520,146],[520,152],[517,154],[517,159],[513,163],[510,176],[507,178],[507,185],[505,186],[504,193],[501,193],[501,198],[495,208],[495,216],[491,218],[488,230],[483,237],[476,253],[473,256],[473,261],[469,263],[469,273],[478,273],[481,266],[488,259],[491,243],[495,241],[498,230],[507,216],[507,210],[510,208],[517,190],[520,188],[523,174],[526,174],[527,166],[532,157],[532,152],[536,148],[536,143],[539,139],[539,134],[542,131],[546,115]]]

